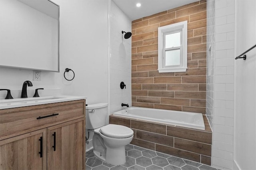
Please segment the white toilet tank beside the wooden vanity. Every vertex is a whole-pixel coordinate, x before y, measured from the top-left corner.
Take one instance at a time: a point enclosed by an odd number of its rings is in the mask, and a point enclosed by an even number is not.
[[[86,129],[96,129],[105,125],[108,116],[107,103],[92,104],[85,108]]]

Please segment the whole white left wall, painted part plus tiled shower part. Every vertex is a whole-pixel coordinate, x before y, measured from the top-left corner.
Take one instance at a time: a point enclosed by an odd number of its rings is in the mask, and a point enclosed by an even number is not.
[[[124,39],[121,33],[131,31],[131,20],[110,0],[53,2],[60,5],[60,72],[42,71],[38,82],[32,81],[32,70],[0,67],[0,88],[11,89],[12,96],[19,98],[23,82],[30,80],[28,97],[34,89],[44,88],[40,96],[65,94],[86,96],[87,104],[111,102],[111,112],[122,109],[122,102],[131,106],[131,38]],[[74,80],[64,79],[65,68],[74,70]],[[120,89],[121,81],[126,89]],[[5,96],[0,91],[0,99]]]

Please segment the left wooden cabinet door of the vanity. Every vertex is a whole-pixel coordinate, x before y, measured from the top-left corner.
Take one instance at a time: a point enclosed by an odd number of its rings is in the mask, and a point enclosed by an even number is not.
[[[46,129],[0,141],[0,170],[46,170]]]

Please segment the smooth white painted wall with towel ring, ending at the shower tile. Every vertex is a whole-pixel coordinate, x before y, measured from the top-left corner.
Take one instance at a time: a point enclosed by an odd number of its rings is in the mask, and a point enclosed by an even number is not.
[[[61,89],[60,94],[86,96],[87,104],[107,102],[108,46],[107,1],[53,0],[60,5],[60,72],[42,72],[42,81],[32,81],[33,71],[0,67],[0,88],[15,89],[20,96],[22,84],[30,80],[33,87]],[[75,72],[72,81],[64,79],[65,68]],[[68,76],[68,75],[67,75]],[[54,90],[56,91],[56,90]],[[0,92],[5,98],[6,92]]]

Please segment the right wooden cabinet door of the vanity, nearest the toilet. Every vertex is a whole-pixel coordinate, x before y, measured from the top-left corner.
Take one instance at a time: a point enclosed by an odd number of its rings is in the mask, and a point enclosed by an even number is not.
[[[47,169],[83,170],[85,164],[85,119],[47,128]]]

